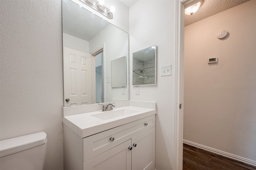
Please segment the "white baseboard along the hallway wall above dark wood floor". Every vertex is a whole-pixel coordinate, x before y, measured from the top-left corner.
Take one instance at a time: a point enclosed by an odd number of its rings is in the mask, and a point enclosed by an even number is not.
[[[228,158],[231,158],[231,159],[234,159],[234,160],[238,160],[240,162],[244,162],[244,163],[250,164],[252,166],[256,166],[256,161],[254,161],[254,160],[246,159],[246,158],[243,158],[241,156],[237,156],[237,155],[234,155],[234,154],[223,152],[221,150],[213,149],[213,148],[206,147],[204,145],[200,145],[200,144],[197,144],[197,143],[194,143],[194,142],[190,142],[190,141],[186,141],[186,140],[183,140],[183,143],[191,145],[193,147],[197,147],[199,149],[206,150],[208,152],[213,152],[213,153],[219,154],[221,156],[225,156],[225,157],[228,157]]]

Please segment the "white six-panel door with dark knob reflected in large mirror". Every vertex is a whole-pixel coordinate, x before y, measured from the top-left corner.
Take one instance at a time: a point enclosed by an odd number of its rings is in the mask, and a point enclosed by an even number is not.
[[[92,57],[88,53],[63,48],[64,106],[92,103]]]

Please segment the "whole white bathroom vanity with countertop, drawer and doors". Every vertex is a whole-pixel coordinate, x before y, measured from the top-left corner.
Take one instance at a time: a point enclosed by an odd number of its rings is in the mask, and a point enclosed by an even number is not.
[[[65,170],[154,170],[155,107],[125,101],[111,111],[67,116],[64,107]]]

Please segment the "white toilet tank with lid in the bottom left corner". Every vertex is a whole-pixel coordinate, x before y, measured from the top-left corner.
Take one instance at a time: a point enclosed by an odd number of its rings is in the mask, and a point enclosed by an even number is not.
[[[0,170],[44,170],[46,133],[0,141]]]

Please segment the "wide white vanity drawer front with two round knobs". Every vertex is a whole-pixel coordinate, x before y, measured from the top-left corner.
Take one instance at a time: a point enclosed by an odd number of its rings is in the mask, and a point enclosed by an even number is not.
[[[147,125],[145,125],[146,123]],[[154,126],[155,115],[152,115],[86,137],[83,139],[83,161],[86,162]],[[114,141],[110,141],[111,137],[114,138]]]

